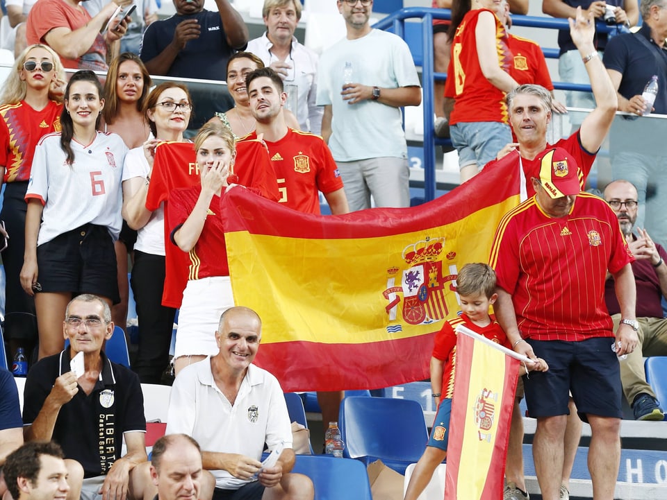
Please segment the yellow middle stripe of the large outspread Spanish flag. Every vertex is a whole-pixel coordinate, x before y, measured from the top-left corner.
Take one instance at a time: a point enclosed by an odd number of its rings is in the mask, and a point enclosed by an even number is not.
[[[456,273],[468,262],[486,262],[498,214],[517,202],[518,196],[512,196],[460,221],[375,238],[229,232],[225,239],[234,300],[261,311],[263,344],[290,340],[356,344],[432,333],[460,309],[450,288]],[[437,255],[409,259],[411,250],[434,242],[442,243]],[[404,318],[409,316],[403,307],[410,279],[415,289],[409,293],[415,296],[416,287],[429,282],[442,290],[441,297],[433,294],[427,304],[434,320],[430,326]],[[400,302],[393,317],[387,307],[396,298]],[[388,333],[388,325],[398,323],[402,331]]]

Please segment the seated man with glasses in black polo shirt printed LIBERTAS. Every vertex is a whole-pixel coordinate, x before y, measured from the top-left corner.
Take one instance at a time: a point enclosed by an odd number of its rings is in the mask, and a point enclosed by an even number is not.
[[[104,300],[79,295],[67,304],[63,321],[69,347],[40,360],[26,380],[24,436],[58,442],[72,459],[70,476],[81,476],[83,467],[83,488],[72,498],[141,499],[150,484],[139,379],[102,351],[113,328]],[[83,363],[77,365],[79,355]],[[127,452],[121,456],[123,438]],[[72,468],[74,460],[81,467]]]

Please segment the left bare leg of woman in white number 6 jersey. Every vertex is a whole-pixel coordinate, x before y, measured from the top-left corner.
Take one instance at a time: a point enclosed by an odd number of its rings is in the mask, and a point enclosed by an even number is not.
[[[35,293],[37,328],[40,334],[38,359],[58,354],[65,347],[63,321],[65,320],[65,309],[70,300],[72,300],[72,293],[69,292]]]

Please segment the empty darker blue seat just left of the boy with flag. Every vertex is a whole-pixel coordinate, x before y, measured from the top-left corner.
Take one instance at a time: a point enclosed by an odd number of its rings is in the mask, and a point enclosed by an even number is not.
[[[343,456],[366,466],[379,458],[400,474],[419,460],[429,439],[422,407],[410,399],[347,397],[340,404],[338,426]]]

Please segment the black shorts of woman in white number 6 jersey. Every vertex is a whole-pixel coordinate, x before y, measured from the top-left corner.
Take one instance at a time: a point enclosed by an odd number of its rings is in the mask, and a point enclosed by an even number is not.
[[[42,292],[93,293],[120,302],[116,253],[106,227],[85,224],[37,248]]]

